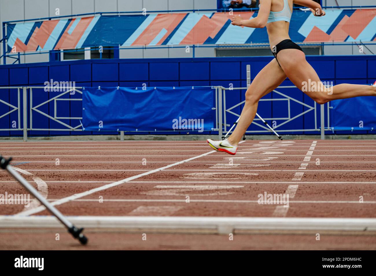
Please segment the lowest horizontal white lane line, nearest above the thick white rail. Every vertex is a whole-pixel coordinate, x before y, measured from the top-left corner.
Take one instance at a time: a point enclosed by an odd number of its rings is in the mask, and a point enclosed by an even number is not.
[[[49,199],[54,202],[59,199]],[[182,202],[186,203],[185,199],[103,199],[103,202]],[[98,199],[74,199],[72,202],[98,202]],[[205,202],[205,203],[256,203],[257,200],[236,200],[236,199],[190,199],[190,202]],[[359,201],[325,201],[325,200],[289,200],[289,203],[299,204],[359,204]],[[361,204],[376,204],[376,201],[364,201]],[[260,204],[258,204],[260,205]],[[283,207],[282,205],[278,205]],[[287,207],[283,207],[287,209]]]

